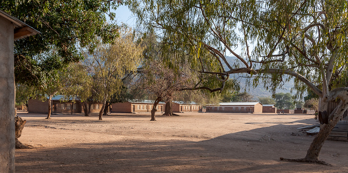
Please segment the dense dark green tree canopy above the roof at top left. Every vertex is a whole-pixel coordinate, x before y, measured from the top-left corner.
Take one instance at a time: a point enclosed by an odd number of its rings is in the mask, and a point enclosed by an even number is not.
[[[15,80],[40,86],[48,73],[82,59],[79,47],[93,51],[100,37],[111,43],[118,36],[114,20],[118,1],[110,0],[2,0],[0,9],[40,31],[14,43]],[[38,55],[57,51],[56,56]],[[54,72],[53,72],[54,73]],[[49,80],[49,79],[48,79]]]

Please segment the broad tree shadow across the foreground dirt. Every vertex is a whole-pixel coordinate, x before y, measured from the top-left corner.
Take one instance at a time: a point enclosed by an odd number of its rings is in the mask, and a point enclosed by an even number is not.
[[[313,136],[302,134],[296,129],[298,127],[298,124],[278,124],[199,142],[189,141],[182,136],[182,140],[127,139],[61,148],[16,150],[16,172],[348,172],[347,142],[343,141],[327,141],[322,149],[321,159],[333,164],[334,168],[279,161],[279,157],[304,157]],[[294,136],[294,132],[298,134]],[[175,139],[178,137],[176,135]]]

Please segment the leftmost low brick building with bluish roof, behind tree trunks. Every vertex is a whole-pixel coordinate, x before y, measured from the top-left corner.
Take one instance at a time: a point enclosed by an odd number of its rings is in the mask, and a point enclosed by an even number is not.
[[[74,101],[73,101],[74,100]],[[56,95],[51,99],[52,113],[83,113],[84,109],[79,98],[65,98],[64,95]],[[89,105],[88,105],[89,106]],[[94,102],[90,105],[90,113],[98,113],[102,104]],[[28,100],[29,113],[48,113],[48,97],[45,99],[30,98]]]

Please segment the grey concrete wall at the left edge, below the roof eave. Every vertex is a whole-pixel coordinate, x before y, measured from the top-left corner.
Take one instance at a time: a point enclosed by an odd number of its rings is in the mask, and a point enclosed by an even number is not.
[[[0,173],[14,173],[13,24],[0,16]]]

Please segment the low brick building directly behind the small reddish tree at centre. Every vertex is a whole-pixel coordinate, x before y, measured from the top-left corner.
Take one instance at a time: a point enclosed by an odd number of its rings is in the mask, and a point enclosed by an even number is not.
[[[154,100],[128,100],[123,103],[112,103],[111,112],[151,112],[154,102]],[[157,111],[163,112],[165,105],[165,102],[159,102]]]

